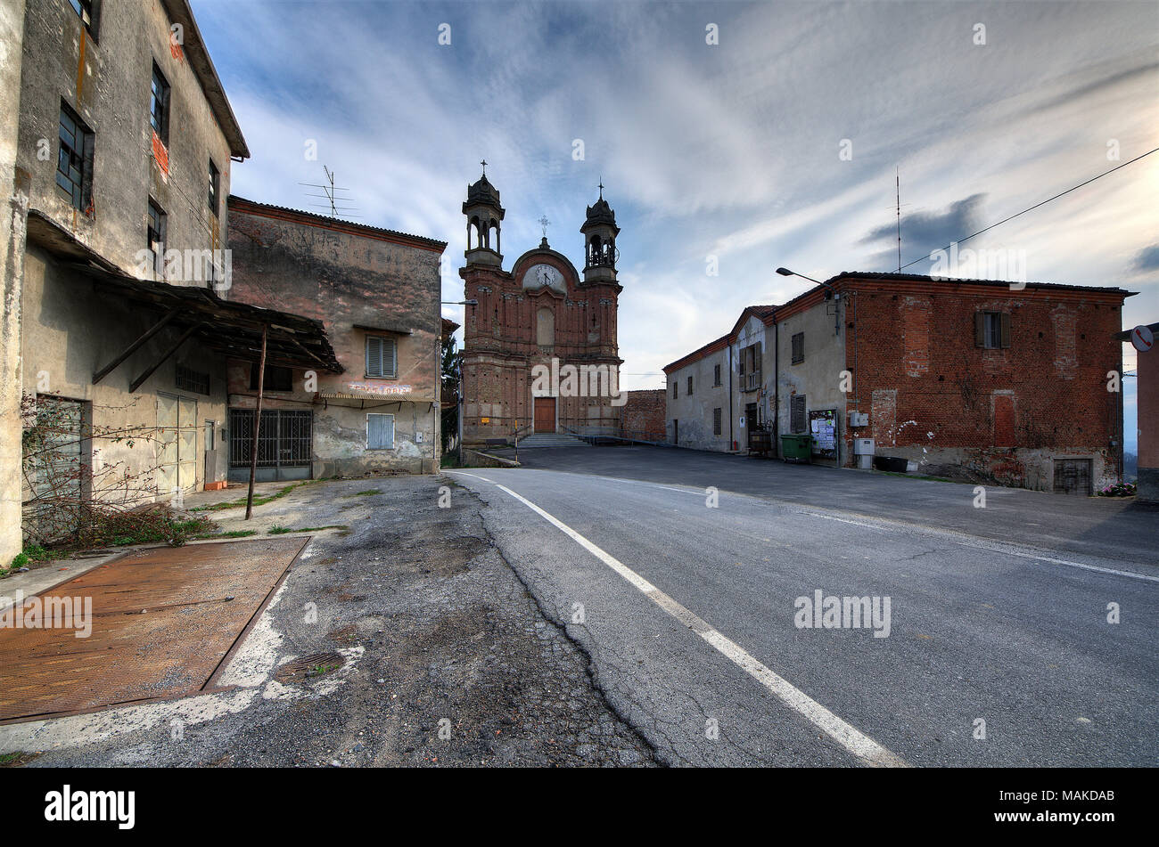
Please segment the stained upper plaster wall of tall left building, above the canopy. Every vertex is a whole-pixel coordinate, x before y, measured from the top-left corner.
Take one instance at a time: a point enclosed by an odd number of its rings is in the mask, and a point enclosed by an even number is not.
[[[100,3],[95,38],[67,2],[29,0],[25,16],[17,163],[31,175],[31,207],[130,273],[147,246],[150,196],[168,215],[168,248],[213,249],[227,223],[229,147],[189,61],[170,49],[169,25],[159,2]],[[150,124],[154,60],[172,87],[167,170]],[[96,135],[90,214],[56,183],[61,100]],[[219,222],[209,211],[211,157]]]

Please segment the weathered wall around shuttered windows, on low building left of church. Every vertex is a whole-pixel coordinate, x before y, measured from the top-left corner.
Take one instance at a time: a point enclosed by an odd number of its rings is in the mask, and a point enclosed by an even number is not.
[[[231,300],[283,309],[321,321],[334,346],[340,375],[318,371],[318,390],[306,390],[305,371],[293,391],[269,391],[267,408],[314,412],[314,477],[382,471],[430,473],[439,464],[442,316],[439,257],[435,245],[400,243],[371,228],[331,227],[326,219],[282,212],[231,198],[233,251]],[[331,222],[333,223],[333,222]],[[356,325],[398,329],[384,333]],[[394,338],[398,376],[366,376],[366,337]],[[402,391],[398,399],[363,395],[351,385]],[[229,405],[252,408],[249,363],[229,367]],[[395,447],[366,447],[366,413],[395,415]]]

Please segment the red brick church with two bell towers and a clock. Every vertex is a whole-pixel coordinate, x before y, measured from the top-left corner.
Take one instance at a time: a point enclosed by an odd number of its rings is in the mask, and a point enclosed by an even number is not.
[[[478,301],[466,307],[464,326],[464,442],[511,441],[532,432],[618,430],[620,228],[603,186],[580,227],[582,275],[567,256],[548,245],[546,219],[540,221],[539,246],[516,259],[510,271],[503,270],[504,209],[486,171],[467,187],[462,213],[467,250],[459,275],[466,300]],[[576,371],[591,378],[569,378]]]

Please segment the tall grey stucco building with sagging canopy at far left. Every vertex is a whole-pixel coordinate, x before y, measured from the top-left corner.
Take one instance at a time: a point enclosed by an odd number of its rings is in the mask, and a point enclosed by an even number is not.
[[[275,356],[338,366],[318,322],[219,296],[249,150],[189,3],[5,0],[0,28],[7,562],[22,526],[75,517],[29,511],[52,486],[131,506],[224,485],[226,361],[263,330]],[[49,417],[52,461],[23,455]]]

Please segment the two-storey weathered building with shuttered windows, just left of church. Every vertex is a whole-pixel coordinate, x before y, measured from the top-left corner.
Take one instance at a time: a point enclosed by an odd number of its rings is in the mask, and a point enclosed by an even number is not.
[[[257,479],[437,470],[442,340],[457,329],[439,315],[446,242],[240,197],[228,205],[229,299],[320,322],[342,367],[267,368]],[[256,395],[256,367],[231,362],[232,479],[249,478]]]

